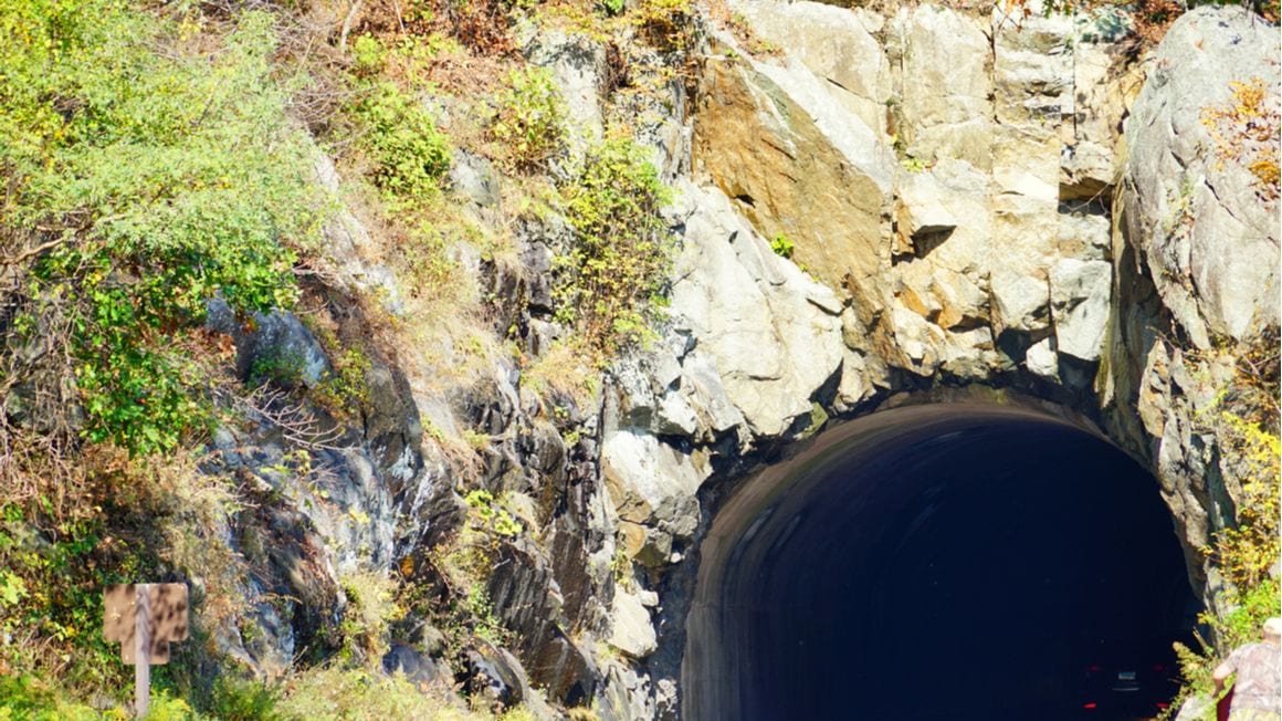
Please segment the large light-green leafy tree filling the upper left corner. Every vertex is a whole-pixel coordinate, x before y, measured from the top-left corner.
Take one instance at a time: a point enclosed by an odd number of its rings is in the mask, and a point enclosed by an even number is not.
[[[0,45],[0,248],[47,249],[18,316],[69,328],[90,440],[173,448],[205,418],[169,337],[214,295],[288,305],[315,237],[271,18],[245,13],[219,51],[188,53],[178,23],[123,1],[18,0]]]

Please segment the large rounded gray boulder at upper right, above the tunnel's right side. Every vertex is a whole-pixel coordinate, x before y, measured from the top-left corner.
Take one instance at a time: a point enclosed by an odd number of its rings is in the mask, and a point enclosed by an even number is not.
[[[1127,237],[1163,303],[1199,346],[1210,332],[1245,339],[1278,323],[1277,203],[1258,196],[1242,163],[1220,163],[1201,122],[1261,78],[1278,103],[1276,27],[1236,8],[1196,8],[1158,47],[1127,121]]]

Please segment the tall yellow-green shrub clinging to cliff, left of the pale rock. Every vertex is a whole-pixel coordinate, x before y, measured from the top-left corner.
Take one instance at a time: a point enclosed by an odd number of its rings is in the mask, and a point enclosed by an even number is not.
[[[649,337],[664,301],[674,237],[659,214],[670,191],[647,150],[609,137],[562,189],[574,246],[556,258],[556,317],[605,357]]]

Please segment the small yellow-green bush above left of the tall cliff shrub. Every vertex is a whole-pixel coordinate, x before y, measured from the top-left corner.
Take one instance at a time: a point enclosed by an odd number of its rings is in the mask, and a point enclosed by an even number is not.
[[[510,163],[535,171],[565,146],[565,103],[547,68],[513,71],[490,121],[490,137],[505,146]]]

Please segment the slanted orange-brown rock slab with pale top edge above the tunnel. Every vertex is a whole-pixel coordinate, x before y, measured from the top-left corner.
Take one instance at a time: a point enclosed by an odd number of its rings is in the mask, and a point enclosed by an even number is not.
[[[876,278],[890,260],[882,242],[892,172],[885,145],[799,62],[714,59],[701,85],[700,114],[717,122],[695,123],[696,169],[760,235],[790,239],[797,263],[832,287],[849,287],[870,318],[885,305]]]

